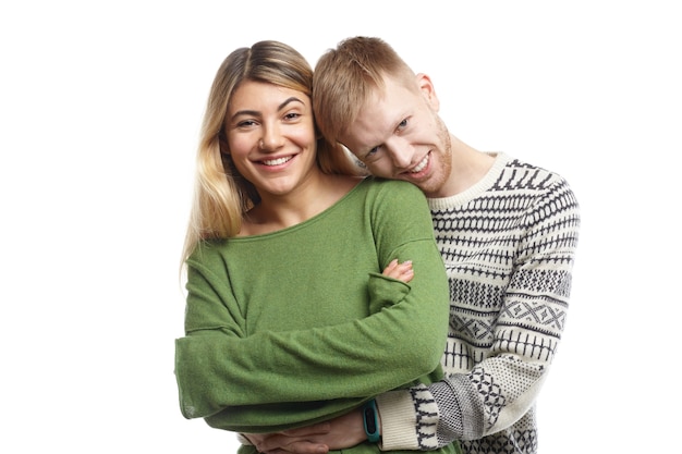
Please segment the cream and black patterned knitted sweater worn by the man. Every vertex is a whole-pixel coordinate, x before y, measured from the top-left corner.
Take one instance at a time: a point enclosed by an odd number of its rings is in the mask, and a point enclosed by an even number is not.
[[[536,453],[534,403],[564,328],[577,201],[559,175],[499,154],[478,184],[429,206],[450,280],[448,379],[377,397],[381,447],[462,440],[471,454]]]

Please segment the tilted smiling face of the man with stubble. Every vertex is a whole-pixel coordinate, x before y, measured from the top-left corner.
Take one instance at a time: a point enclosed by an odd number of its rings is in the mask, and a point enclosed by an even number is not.
[[[340,140],[376,176],[404,180],[427,197],[441,193],[452,169],[450,135],[438,116],[430,79],[419,74],[414,87],[386,78]]]

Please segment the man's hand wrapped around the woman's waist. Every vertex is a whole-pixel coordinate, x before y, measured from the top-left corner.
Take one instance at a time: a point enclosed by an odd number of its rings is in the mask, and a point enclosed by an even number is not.
[[[326,454],[367,440],[360,409],[308,427],[244,435],[264,454]]]

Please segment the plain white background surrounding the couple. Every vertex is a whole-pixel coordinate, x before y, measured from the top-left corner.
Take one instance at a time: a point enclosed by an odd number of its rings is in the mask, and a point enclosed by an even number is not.
[[[3,2],[0,451],[234,452],[181,416],[173,377],[206,96],[236,47],[314,64],[352,35],[428,73],[453,134],[580,199],[540,453],[674,451],[681,19],[655,0]]]

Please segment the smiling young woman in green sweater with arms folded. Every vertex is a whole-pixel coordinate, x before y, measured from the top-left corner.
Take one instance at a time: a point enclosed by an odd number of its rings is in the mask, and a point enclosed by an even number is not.
[[[299,52],[261,41],[210,90],[175,375],[182,414],[216,428],[300,427],[442,377],[448,282],[426,199],[336,161],[312,81]]]

